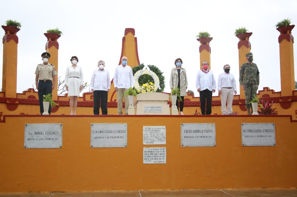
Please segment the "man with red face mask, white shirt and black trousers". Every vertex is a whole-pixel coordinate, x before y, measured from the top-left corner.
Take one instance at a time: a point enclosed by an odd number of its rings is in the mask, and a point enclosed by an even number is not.
[[[196,88],[200,94],[200,108],[202,115],[211,114],[212,93],[216,91],[216,80],[214,73],[208,69],[208,62],[202,62],[202,69],[198,71],[196,78]],[[205,112],[206,101],[206,112]]]

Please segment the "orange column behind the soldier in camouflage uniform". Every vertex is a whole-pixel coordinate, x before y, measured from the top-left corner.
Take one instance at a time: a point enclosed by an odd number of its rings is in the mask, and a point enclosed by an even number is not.
[[[239,38],[239,42],[237,44],[238,47],[238,57],[239,57],[239,70],[241,64],[247,62],[246,54],[251,52],[251,43],[249,42],[249,37],[253,33],[244,33],[244,34],[237,34],[236,37]],[[240,88],[240,99],[245,99],[244,90]]]

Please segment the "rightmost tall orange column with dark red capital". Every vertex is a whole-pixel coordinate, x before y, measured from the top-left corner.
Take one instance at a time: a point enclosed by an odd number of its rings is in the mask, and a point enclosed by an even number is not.
[[[291,30],[295,25],[289,25],[287,28],[279,27],[279,60],[280,60],[280,81],[281,95],[292,96],[292,91],[295,90],[294,77],[294,53],[293,42],[294,38]]]

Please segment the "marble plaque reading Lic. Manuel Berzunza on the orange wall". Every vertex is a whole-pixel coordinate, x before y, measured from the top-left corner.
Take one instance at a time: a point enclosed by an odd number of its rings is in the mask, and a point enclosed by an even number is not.
[[[62,148],[62,123],[26,124],[25,148]]]

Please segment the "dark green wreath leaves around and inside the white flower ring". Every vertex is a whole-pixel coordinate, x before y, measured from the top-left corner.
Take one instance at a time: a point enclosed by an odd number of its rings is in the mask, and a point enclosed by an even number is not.
[[[144,64],[139,64],[138,66],[133,67],[132,68],[133,75],[135,75],[135,73],[138,70],[142,70],[143,67],[144,67]],[[151,69],[152,72],[156,73],[156,75],[159,77],[159,81],[160,81],[159,85],[160,85],[161,89],[157,89],[157,92],[163,92],[164,88],[165,88],[165,83],[164,83],[165,77],[163,76],[163,72],[158,67],[156,67],[154,65],[148,65],[148,67],[149,67],[149,69]],[[150,75],[141,75],[138,78],[138,82],[140,85],[147,83],[148,81],[155,83],[153,80],[153,77],[151,77]]]

